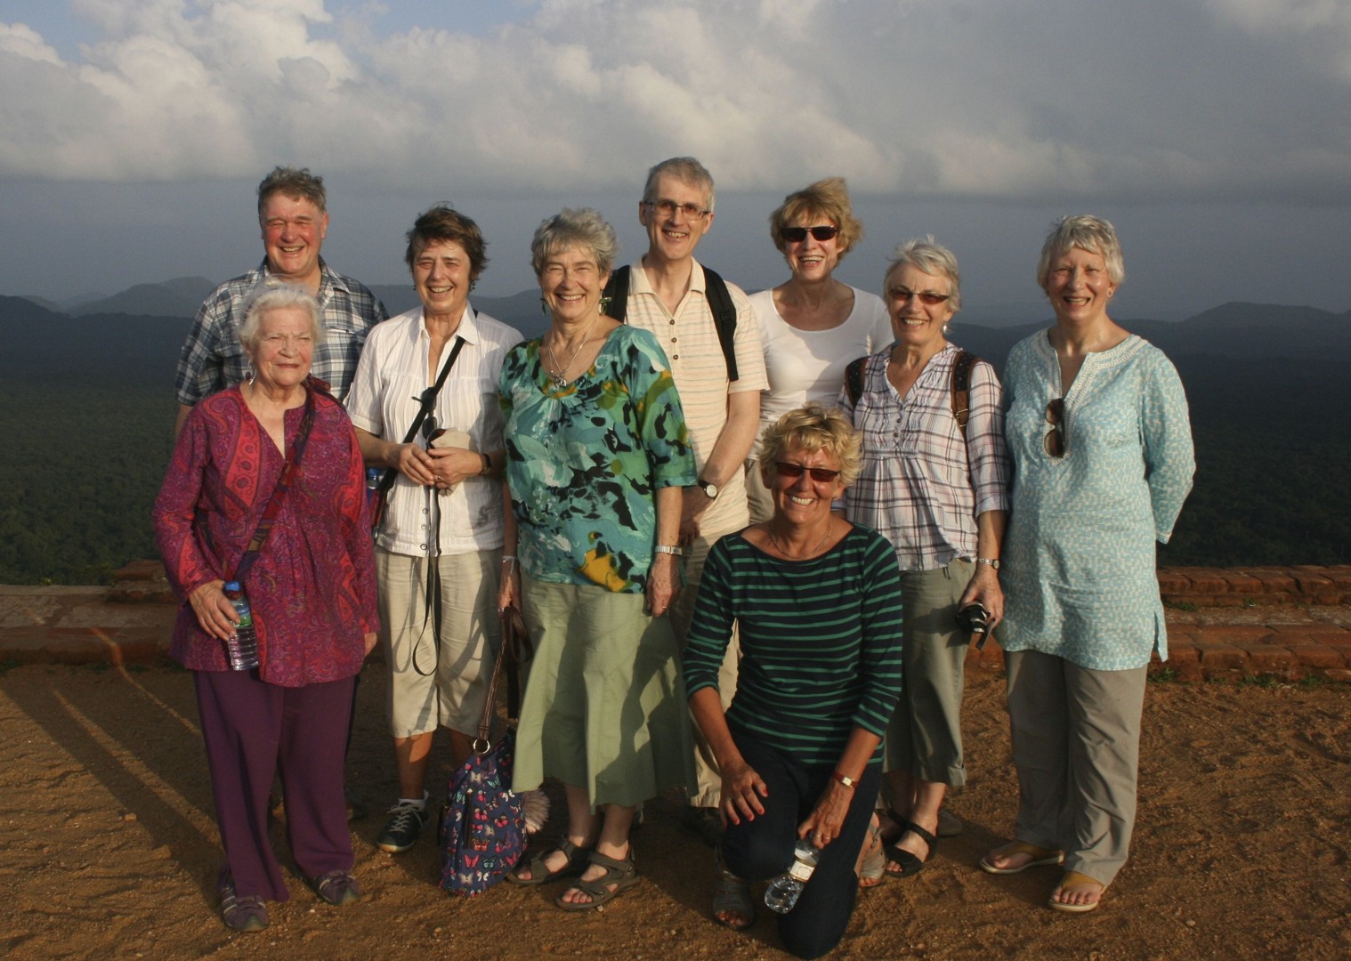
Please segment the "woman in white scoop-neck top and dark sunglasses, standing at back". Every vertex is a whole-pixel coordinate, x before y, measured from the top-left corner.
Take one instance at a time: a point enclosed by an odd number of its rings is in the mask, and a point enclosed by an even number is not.
[[[848,362],[892,342],[882,301],[831,276],[863,238],[863,224],[850,208],[842,177],[789,193],[769,224],[792,276],[751,296],[769,374],[769,389],[761,395],[759,430],[746,461],[751,523],[774,514],[759,469],[761,438],[769,426],[811,401],[834,407]]]

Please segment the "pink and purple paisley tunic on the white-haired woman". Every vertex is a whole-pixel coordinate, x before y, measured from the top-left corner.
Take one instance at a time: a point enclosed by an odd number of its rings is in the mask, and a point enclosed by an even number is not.
[[[304,407],[286,411],[286,449]],[[226,647],[197,624],[193,589],[228,580],[277,485],[284,454],[238,387],[192,408],[154,507],[155,542],[185,603],[169,654],[193,670],[227,670]],[[343,408],[315,395],[309,442],[245,585],[258,627],[259,677],[300,687],[351,677],[377,630],[374,557],[357,435]]]

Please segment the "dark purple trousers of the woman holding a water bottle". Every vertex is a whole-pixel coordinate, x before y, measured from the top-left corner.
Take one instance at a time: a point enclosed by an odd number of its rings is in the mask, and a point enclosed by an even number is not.
[[[286,803],[286,839],[305,877],[351,870],[343,800],[343,749],[354,677],[282,688],[254,670],[196,670],[226,870],[239,895],[290,897],[267,838],[276,772]]]

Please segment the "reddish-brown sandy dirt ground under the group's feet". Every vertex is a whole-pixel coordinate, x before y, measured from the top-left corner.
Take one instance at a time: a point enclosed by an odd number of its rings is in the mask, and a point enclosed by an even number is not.
[[[273,841],[292,899],[272,926],[219,920],[216,827],[190,677],[182,670],[15,668],[0,677],[0,954],[8,958],[780,958],[761,912],[735,934],[708,916],[712,856],[648,806],[644,881],[600,912],[555,888],[435,887],[424,835],[374,849],[394,793],[380,668],[366,670],[349,776],[377,814],[353,823],[366,897],[319,903]],[[1088,915],[1044,907],[1054,869],[992,877],[978,857],[1012,826],[1002,684],[969,679],[967,824],[919,876],[863,892],[838,958],[1351,957],[1351,688],[1151,684],[1131,864]],[[438,774],[440,780],[444,770]],[[557,796],[557,792],[555,792]],[[557,824],[544,831],[553,837]]]

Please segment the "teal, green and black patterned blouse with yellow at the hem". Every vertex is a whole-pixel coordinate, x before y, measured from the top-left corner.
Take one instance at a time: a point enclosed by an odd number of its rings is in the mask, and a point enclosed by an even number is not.
[[[666,354],[647,331],[621,326],[590,370],[559,388],[539,345],[512,347],[499,388],[521,570],[640,593],[657,545],[657,491],[696,478]]]

